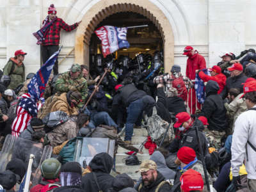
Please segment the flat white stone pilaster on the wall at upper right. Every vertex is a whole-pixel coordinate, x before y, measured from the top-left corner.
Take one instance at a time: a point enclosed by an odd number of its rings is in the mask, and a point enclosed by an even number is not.
[[[216,65],[221,52],[240,54],[245,48],[243,0],[208,0],[209,66]]]

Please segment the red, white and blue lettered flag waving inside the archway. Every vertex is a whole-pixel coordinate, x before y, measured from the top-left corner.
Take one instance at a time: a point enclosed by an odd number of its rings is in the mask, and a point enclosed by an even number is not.
[[[117,28],[115,26],[102,26],[95,31],[101,40],[102,54],[104,58],[108,54],[123,47],[129,48],[130,44],[126,39],[127,28]]]

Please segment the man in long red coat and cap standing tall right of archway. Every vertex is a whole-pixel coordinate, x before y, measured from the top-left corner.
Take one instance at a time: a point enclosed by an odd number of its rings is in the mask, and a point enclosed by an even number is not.
[[[194,50],[191,46],[185,47],[183,54],[188,56],[186,76],[189,77],[189,79],[191,80],[195,80],[196,70],[206,68],[205,59],[202,55],[198,54],[198,51]],[[195,88],[191,88],[189,91],[188,104],[191,114],[195,114],[196,105],[198,109],[201,109],[200,103],[196,102]]]

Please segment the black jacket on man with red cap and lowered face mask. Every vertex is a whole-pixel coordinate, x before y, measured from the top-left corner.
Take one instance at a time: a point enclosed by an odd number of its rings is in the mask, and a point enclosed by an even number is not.
[[[190,148],[193,148],[193,150],[195,150],[196,157],[198,159],[201,159],[195,126],[198,127],[198,136],[199,136],[200,144],[202,146],[204,155],[207,153],[207,140],[205,138],[204,133],[202,132],[204,130],[204,125],[200,120],[195,120],[195,122],[193,123],[193,126],[190,129],[188,129],[188,131],[184,132],[181,135],[180,140],[175,138],[172,141],[172,143],[170,143],[169,145],[170,152],[175,153],[182,147],[190,147]]]

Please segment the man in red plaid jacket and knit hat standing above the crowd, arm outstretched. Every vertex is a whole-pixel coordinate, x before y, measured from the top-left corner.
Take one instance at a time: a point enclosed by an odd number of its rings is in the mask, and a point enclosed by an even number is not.
[[[54,7],[54,4],[51,4],[51,6],[48,9],[48,16],[43,22],[43,26],[45,24],[52,22],[51,26],[47,31],[45,31],[44,40],[42,41],[42,59],[43,63],[45,63],[48,58],[59,49],[60,44],[60,31],[61,28],[65,31],[72,31],[77,28],[77,26],[80,24],[80,22],[76,22],[75,24],[72,24],[69,26],[66,24],[61,18],[56,16],[56,8]],[[58,74],[58,60],[56,60],[56,63],[53,67],[53,74]]]

